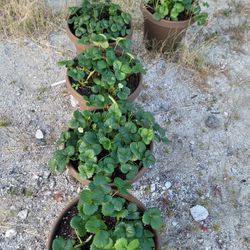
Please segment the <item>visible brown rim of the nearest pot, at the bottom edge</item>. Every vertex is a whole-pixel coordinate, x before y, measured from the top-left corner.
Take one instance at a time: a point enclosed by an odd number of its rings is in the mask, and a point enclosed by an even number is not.
[[[146,211],[146,207],[145,205],[140,202],[139,200],[137,200],[134,196],[132,195],[121,195],[121,194],[117,194],[116,196],[120,196],[130,202],[133,202],[137,205],[137,207],[142,211]],[[53,240],[55,239],[56,237],[56,233],[58,231],[58,227],[60,226],[61,224],[61,221],[64,217],[64,215],[72,208],[74,207],[79,201],[79,198],[75,198],[72,202],[70,202],[64,209],[63,211],[60,213],[60,215],[57,217],[54,225],[52,226],[52,230],[50,231],[50,234],[49,234],[49,238],[48,238],[48,241],[47,241],[47,244],[46,244],[46,250],[52,250],[52,244],[53,244]],[[157,231],[153,230],[152,229],[152,233],[154,234],[155,236],[155,250],[161,250],[161,242],[160,242],[160,235]]]

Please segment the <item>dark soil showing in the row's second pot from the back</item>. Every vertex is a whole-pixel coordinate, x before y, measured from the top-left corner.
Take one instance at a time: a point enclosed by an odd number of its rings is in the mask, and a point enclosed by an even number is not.
[[[76,84],[76,82],[71,78],[69,77],[70,79],[70,83],[71,85],[72,84]],[[129,76],[127,79],[126,79],[126,82],[127,82],[127,87],[130,89],[130,95],[134,93],[134,91],[137,89],[137,87],[139,86],[139,83],[140,83],[140,74],[133,74],[131,76]],[[87,96],[87,97],[90,97],[93,93],[91,91],[91,87],[94,85],[94,83],[92,83],[91,85],[88,85],[88,86],[84,86],[84,87],[80,87],[78,88],[76,91],[82,95],[82,96]]]

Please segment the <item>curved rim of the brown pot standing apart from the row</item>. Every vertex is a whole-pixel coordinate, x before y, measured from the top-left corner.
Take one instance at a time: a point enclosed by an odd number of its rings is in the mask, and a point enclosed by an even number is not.
[[[152,13],[147,9],[147,7],[143,3],[141,3],[140,7],[141,7],[141,11],[145,13],[145,15],[150,19],[150,21],[159,26],[163,26],[163,27],[165,27],[166,25],[167,26],[170,26],[170,25],[171,26],[187,26],[193,22],[192,17],[190,17],[187,20],[181,20],[181,21],[171,21],[171,20],[165,20],[165,19],[161,21],[156,21],[154,20]]]

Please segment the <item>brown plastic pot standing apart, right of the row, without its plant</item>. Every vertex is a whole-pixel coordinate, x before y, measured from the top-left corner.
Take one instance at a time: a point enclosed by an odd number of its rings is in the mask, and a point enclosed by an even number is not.
[[[144,17],[144,39],[150,48],[175,49],[192,23],[191,18],[184,21],[156,21],[144,4],[141,4],[141,11]]]

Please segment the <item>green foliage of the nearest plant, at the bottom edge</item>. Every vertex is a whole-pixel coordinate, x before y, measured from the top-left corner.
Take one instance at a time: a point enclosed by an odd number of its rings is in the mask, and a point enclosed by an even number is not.
[[[153,208],[143,213],[135,203],[107,188],[108,179],[98,176],[89,189],[82,191],[78,214],[70,222],[75,240],[57,238],[53,250],[78,250],[87,242],[91,250],[155,249],[154,235],[149,230],[162,225],[159,210]],[[89,209],[91,204],[95,207]]]

